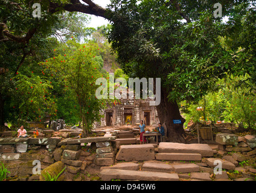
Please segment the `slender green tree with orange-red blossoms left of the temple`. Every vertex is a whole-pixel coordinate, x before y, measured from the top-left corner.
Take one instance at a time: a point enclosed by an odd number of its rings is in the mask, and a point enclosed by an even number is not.
[[[75,107],[75,116],[79,115],[84,130],[89,132],[92,124],[100,120],[100,110],[106,105],[106,101],[95,97],[95,80],[104,76],[98,60],[100,56],[97,58],[99,50],[96,43],[80,45],[74,39],[69,40],[66,45],[54,49],[54,57],[48,59],[45,69],[46,73],[58,77],[58,84],[64,85],[63,93],[68,93],[69,97],[66,105]]]

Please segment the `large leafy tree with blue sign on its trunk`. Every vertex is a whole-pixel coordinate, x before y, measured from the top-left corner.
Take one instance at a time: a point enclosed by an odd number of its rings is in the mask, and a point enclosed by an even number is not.
[[[22,2],[31,6],[34,1]],[[243,62],[251,67],[254,60],[253,46],[243,52],[242,59],[246,54],[252,55],[248,62],[235,57],[237,48],[244,45],[237,42],[234,49],[226,49],[220,43],[220,37],[232,34],[229,37],[232,40],[237,37],[237,31],[246,31],[245,35],[250,31],[240,25],[246,22],[243,22],[245,17],[238,15],[249,13],[251,1],[112,0],[109,8],[91,0],[83,2],[85,4],[78,0],[43,1],[42,7],[49,15],[62,10],[79,11],[112,21],[109,40],[124,72],[129,77],[161,78],[161,104],[157,110],[160,121],[167,125],[170,141],[184,142],[185,120],[179,113],[180,100],[199,100],[207,90],[213,89],[214,81],[237,73],[241,70],[237,66]],[[231,22],[224,24],[220,17],[214,17],[216,3],[219,3],[219,14],[229,16]],[[246,21],[254,19],[254,14],[248,14]],[[5,28],[1,28],[0,41],[27,40],[27,36],[33,35],[30,28],[26,36],[12,37],[8,22],[2,23]],[[242,73],[252,71],[252,68],[243,69]],[[182,124],[173,124],[173,119],[181,119]]]

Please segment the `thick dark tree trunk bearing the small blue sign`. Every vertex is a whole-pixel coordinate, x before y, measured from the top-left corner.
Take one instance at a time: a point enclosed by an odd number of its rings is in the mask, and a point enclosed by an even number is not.
[[[185,143],[185,131],[183,128],[185,119],[182,118],[176,101],[168,101],[167,96],[167,90],[161,87],[161,103],[156,106],[159,121],[167,126],[167,134],[165,135],[168,137],[168,141]],[[173,119],[181,119],[182,124],[173,124]]]

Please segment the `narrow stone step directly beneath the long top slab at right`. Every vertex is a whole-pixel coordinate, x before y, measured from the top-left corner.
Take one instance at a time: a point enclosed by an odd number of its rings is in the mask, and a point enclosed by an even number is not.
[[[202,160],[202,156],[199,153],[157,153],[156,159],[157,160],[200,161]]]

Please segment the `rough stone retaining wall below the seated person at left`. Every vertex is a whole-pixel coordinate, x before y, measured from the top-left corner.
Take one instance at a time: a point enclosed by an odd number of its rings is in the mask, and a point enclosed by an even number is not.
[[[63,162],[71,174],[86,172],[89,165],[109,166],[115,163],[117,143],[109,138],[0,138],[0,161],[7,166],[8,177],[39,180],[33,168],[40,162],[41,170]],[[91,143],[91,145],[89,145]],[[36,162],[35,162],[36,160]]]

